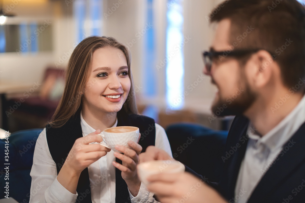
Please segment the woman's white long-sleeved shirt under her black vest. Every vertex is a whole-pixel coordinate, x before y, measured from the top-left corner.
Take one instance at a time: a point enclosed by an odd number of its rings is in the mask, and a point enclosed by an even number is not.
[[[117,121],[112,127],[116,126]],[[81,128],[83,136],[95,132],[95,129],[86,123],[82,115]],[[167,135],[159,124],[156,124],[155,146],[165,150],[172,156]],[[115,161],[115,156],[113,153],[113,150],[111,150],[106,156],[88,166],[92,203],[115,203],[115,167],[112,165],[112,162]],[[77,194],[72,194],[68,191],[56,178],[56,164],[48,148],[45,129],[40,133],[36,142],[30,175],[32,177],[30,202],[72,203],[76,201]],[[142,184],[136,197],[133,197],[130,192],[129,195],[131,202],[157,202],[152,198],[153,194],[147,191]]]

